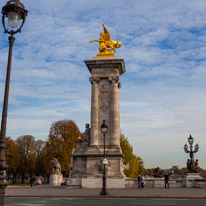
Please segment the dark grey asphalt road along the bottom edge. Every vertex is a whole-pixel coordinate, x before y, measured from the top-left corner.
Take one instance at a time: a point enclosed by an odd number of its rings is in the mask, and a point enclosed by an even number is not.
[[[6,197],[4,206],[205,206],[206,199],[175,198],[69,198],[69,197]]]

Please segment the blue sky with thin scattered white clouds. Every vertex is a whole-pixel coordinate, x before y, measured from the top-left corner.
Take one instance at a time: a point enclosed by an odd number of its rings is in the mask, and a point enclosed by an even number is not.
[[[2,8],[7,1],[0,1]],[[90,122],[90,73],[84,60],[98,53],[103,22],[115,54],[124,59],[121,130],[146,168],[185,167],[191,134],[206,168],[205,0],[21,1],[29,11],[15,35],[7,136],[48,138],[51,124],[71,119],[81,132]],[[8,34],[0,25],[0,108]]]

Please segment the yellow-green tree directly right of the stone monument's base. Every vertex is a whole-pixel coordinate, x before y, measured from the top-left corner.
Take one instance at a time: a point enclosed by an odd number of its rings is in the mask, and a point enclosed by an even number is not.
[[[126,165],[129,163],[129,169],[125,171],[125,175],[127,177],[136,178],[139,174],[143,174],[144,163],[140,157],[133,154],[133,148],[123,134],[120,136],[120,146],[124,154],[124,164]]]

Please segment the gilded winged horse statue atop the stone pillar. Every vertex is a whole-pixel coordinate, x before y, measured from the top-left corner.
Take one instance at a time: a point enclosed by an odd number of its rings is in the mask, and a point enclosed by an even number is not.
[[[91,40],[92,42],[99,42],[99,54],[94,58],[114,58],[116,53],[116,48],[120,48],[122,42],[110,39],[110,33],[107,28],[102,23],[104,33],[100,32],[99,40]]]

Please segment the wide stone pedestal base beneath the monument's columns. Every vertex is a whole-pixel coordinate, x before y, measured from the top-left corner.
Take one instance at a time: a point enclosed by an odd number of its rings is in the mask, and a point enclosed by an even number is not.
[[[107,188],[125,188],[122,154],[107,153]],[[74,188],[101,188],[103,177],[103,155],[89,150],[85,154],[73,154],[72,174],[67,185]]]

